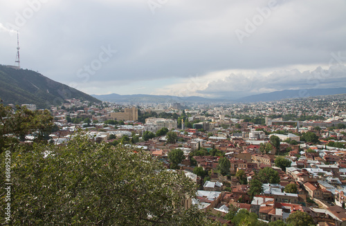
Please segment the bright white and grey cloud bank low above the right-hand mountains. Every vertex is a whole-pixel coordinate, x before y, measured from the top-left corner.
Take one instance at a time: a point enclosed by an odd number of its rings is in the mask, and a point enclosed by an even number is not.
[[[224,79],[210,82],[198,91],[201,94],[244,97],[288,89],[340,88],[346,86],[346,66],[334,65],[327,69],[300,71],[281,70],[270,75],[260,73],[232,73]]]

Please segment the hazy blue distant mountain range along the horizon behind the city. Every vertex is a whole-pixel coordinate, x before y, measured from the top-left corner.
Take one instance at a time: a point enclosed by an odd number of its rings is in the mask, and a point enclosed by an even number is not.
[[[336,95],[346,93],[346,88],[313,88],[300,90],[276,91],[272,93],[262,93],[242,97],[237,100],[212,99],[204,97],[176,97],[171,95],[119,95],[116,93],[108,95],[92,95],[102,101],[116,103],[140,103],[140,102],[155,102],[155,103],[235,103],[235,102],[268,102],[274,100],[284,100],[299,97],[315,97],[319,95]]]

